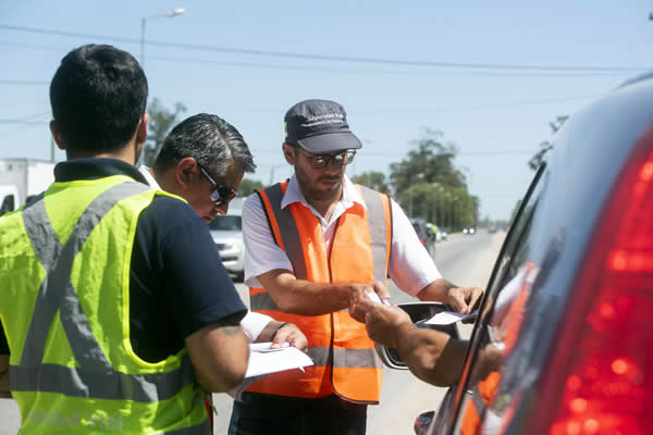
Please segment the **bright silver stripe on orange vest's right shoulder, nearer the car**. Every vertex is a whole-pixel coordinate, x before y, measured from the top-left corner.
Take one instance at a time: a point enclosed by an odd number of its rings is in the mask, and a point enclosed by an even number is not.
[[[374,263],[374,281],[385,284],[387,276],[387,233],[385,231],[385,211],[383,209],[383,197],[378,191],[359,186],[360,194],[365,200],[372,243],[372,259]],[[389,223],[390,224],[390,223]]]

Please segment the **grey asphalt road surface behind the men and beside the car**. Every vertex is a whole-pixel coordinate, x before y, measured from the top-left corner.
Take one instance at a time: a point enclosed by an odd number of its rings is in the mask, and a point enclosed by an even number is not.
[[[449,235],[447,240],[438,244],[435,262],[440,272],[457,285],[484,287],[504,236],[502,232]],[[242,283],[237,283],[236,287],[247,303],[247,289]],[[411,300],[392,284],[390,293],[395,303]],[[469,332],[469,327],[464,330],[464,334]],[[368,434],[412,434],[415,418],[420,412],[436,410],[444,393],[444,388],[428,385],[408,371],[384,370],[381,405],[370,407],[368,411]],[[214,433],[226,434],[232,399],[224,394],[213,395],[213,399],[218,411]],[[19,427],[20,414],[15,402],[0,399],[0,435],[16,434]]]

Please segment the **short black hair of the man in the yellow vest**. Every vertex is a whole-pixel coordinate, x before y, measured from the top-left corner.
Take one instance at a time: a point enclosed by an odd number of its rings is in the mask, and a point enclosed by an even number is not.
[[[62,60],[50,84],[52,116],[67,149],[115,151],[146,111],[147,78],[126,51],[87,45]]]

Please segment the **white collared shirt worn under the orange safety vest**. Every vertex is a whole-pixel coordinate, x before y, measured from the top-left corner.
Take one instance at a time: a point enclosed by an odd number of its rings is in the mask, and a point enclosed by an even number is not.
[[[343,183],[343,196],[336,203],[329,222],[306,201],[294,175],[288,183],[281,207],[285,208],[293,202],[301,202],[319,219],[326,249],[333,240],[337,219],[354,206],[354,202],[365,207],[360,192],[346,175]],[[442,275],[427,249],[419,241],[408,216],[394,200],[391,201],[391,204],[393,240],[390,254],[390,277],[402,290],[415,296]],[[245,243],[245,284],[249,287],[260,288],[261,284],[257,276],[266,272],[275,269],[293,271],[291,260],[272,238],[266,212],[256,194],[247,197],[243,204],[243,239]]]

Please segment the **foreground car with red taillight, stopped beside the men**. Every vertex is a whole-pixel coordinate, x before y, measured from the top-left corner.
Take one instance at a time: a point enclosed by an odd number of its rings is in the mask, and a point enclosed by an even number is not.
[[[495,261],[461,378],[416,433],[653,434],[652,204],[653,73],[557,132]],[[485,375],[489,346],[501,361]]]

